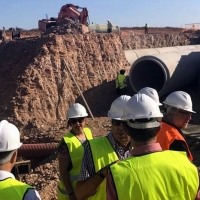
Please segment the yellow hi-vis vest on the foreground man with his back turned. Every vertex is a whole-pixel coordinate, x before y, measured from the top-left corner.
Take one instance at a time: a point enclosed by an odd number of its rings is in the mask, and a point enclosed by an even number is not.
[[[198,191],[198,171],[185,152],[131,157],[110,169],[118,200],[194,200]]]

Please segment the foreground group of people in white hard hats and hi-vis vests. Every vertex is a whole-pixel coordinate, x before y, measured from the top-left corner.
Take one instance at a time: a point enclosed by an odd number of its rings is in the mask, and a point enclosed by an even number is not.
[[[200,199],[199,174],[181,129],[191,115],[189,94],[167,96],[161,112],[158,93],[142,88],[111,104],[111,131],[94,138],[85,127],[88,113],[79,103],[67,111],[70,131],[58,145],[58,200]],[[21,146],[19,130],[0,122],[0,197],[40,200],[11,170]]]

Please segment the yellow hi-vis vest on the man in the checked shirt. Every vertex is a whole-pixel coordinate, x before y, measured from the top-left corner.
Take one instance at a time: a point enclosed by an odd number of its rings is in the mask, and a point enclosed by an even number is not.
[[[99,171],[106,165],[119,160],[107,137],[96,138],[90,140],[89,143],[94,161],[95,172]],[[106,179],[103,180],[97,192],[88,198],[88,200],[104,199],[106,199]]]

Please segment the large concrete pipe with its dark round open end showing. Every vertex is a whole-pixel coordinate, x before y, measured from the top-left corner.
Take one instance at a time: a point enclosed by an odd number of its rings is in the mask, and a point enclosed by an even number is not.
[[[129,79],[135,92],[148,86],[162,96],[190,84],[199,74],[200,48],[195,48],[142,56],[132,64]]]

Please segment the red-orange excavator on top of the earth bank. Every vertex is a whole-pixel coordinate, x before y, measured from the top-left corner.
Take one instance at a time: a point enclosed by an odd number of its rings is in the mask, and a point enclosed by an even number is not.
[[[81,11],[78,9],[81,9]],[[89,24],[87,8],[82,8],[73,4],[66,4],[61,7],[60,12],[58,13],[58,18],[51,17],[50,19],[48,19],[48,16],[46,15],[46,19],[39,20],[39,30],[45,32],[51,26],[58,25],[65,18],[72,19],[73,21],[83,24],[85,26]]]

